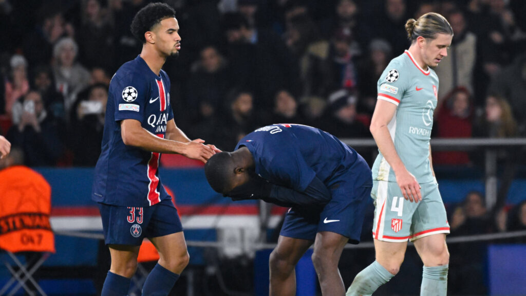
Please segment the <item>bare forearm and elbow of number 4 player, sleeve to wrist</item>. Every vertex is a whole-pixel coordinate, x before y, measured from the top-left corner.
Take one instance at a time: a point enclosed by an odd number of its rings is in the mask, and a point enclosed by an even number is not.
[[[395,174],[406,169],[406,166],[396,151],[395,143],[393,143],[387,127],[393,116],[395,116],[396,108],[397,106],[393,103],[378,100],[376,102],[375,112],[372,114],[371,126],[369,127],[378,149],[382,153],[383,158],[385,158],[392,167],[393,171],[395,171]]]

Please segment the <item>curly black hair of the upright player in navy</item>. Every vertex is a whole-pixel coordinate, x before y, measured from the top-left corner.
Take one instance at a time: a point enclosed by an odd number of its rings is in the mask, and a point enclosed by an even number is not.
[[[175,10],[166,3],[150,3],[141,8],[135,15],[130,25],[131,34],[138,40],[146,43],[144,33],[151,31],[163,19],[175,17]]]

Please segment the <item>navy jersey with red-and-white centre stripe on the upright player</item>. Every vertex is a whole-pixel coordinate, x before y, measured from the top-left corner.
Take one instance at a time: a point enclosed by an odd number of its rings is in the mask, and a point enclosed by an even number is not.
[[[92,199],[96,202],[150,206],[169,198],[161,184],[160,153],[124,144],[120,122],[134,119],[148,132],[164,138],[174,118],[170,80],[156,75],[140,56],[122,65],[109,84],[108,104],[100,153],[95,166]]]

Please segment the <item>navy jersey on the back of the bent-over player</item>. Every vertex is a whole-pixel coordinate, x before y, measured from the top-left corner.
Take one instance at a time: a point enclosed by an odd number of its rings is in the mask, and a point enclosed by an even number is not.
[[[273,124],[251,132],[239,141],[236,150],[246,146],[263,179],[304,192],[315,176],[328,187],[340,173],[363,158],[335,136],[299,124]],[[365,162],[365,161],[363,161]],[[356,172],[356,181],[370,180],[369,170]]]

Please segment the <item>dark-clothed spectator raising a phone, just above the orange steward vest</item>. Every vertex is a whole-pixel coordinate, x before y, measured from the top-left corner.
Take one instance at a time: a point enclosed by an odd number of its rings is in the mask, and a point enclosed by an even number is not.
[[[13,107],[16,124],[9,129],[7,139],[24,151],[25,165],[53,166],[62,153],[58,125],[47,116],[42,95],[29,91],[22,102]],[[15,112],[15,110],[17,110]]]

